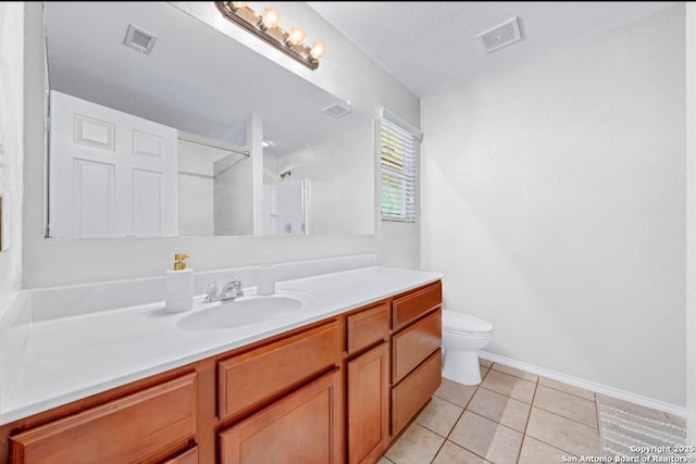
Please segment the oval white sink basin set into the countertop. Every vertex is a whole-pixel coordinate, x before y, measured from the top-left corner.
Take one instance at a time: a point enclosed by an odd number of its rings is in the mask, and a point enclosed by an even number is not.
[[[210,304],[210,308],[182,317],[176,323],[177,327],[183,330],[220,330],[264,324],[299,310],[304,301],[299,297],[276,293],[268,297],[250,294]]]

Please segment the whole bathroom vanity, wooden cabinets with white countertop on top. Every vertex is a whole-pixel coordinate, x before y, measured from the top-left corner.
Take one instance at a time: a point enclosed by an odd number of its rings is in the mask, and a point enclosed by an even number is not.
[[[157,340],[119,340],[112,321],[111,348],[84,365],[91,376],[76,373],[82,393],[65,385],[65,394],[52,393],[63,404],[52,407],[35,393],[34,403],[17,405],[33,414],[0,426],[0,462],[374,463],[440,385],[439,277],[369,267],[281,283],[278,293],[307,296],[303,308],[244,335],[178,334],[174,323],[185,315],[157,305],[73,317],[64,329],[80,317],[145,318],[138,334]],[[86,348],[79,344],[54,350],[53,361]],[[136,358],[128,363],[119,353]],[[107,372],[111,384],[101,385],[120,385],[86,394],[89,378]]]

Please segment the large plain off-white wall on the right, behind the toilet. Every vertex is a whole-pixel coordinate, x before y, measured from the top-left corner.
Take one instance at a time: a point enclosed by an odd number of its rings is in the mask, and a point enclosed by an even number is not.
[[[422,101],[422,263],[494,354],[683,407],[684,5]]]

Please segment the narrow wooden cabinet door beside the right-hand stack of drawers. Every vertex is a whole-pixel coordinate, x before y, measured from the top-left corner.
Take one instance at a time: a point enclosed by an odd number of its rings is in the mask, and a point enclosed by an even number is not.
[[[348,362],[348,462],[373,463],[389,442],[389,349]]]

